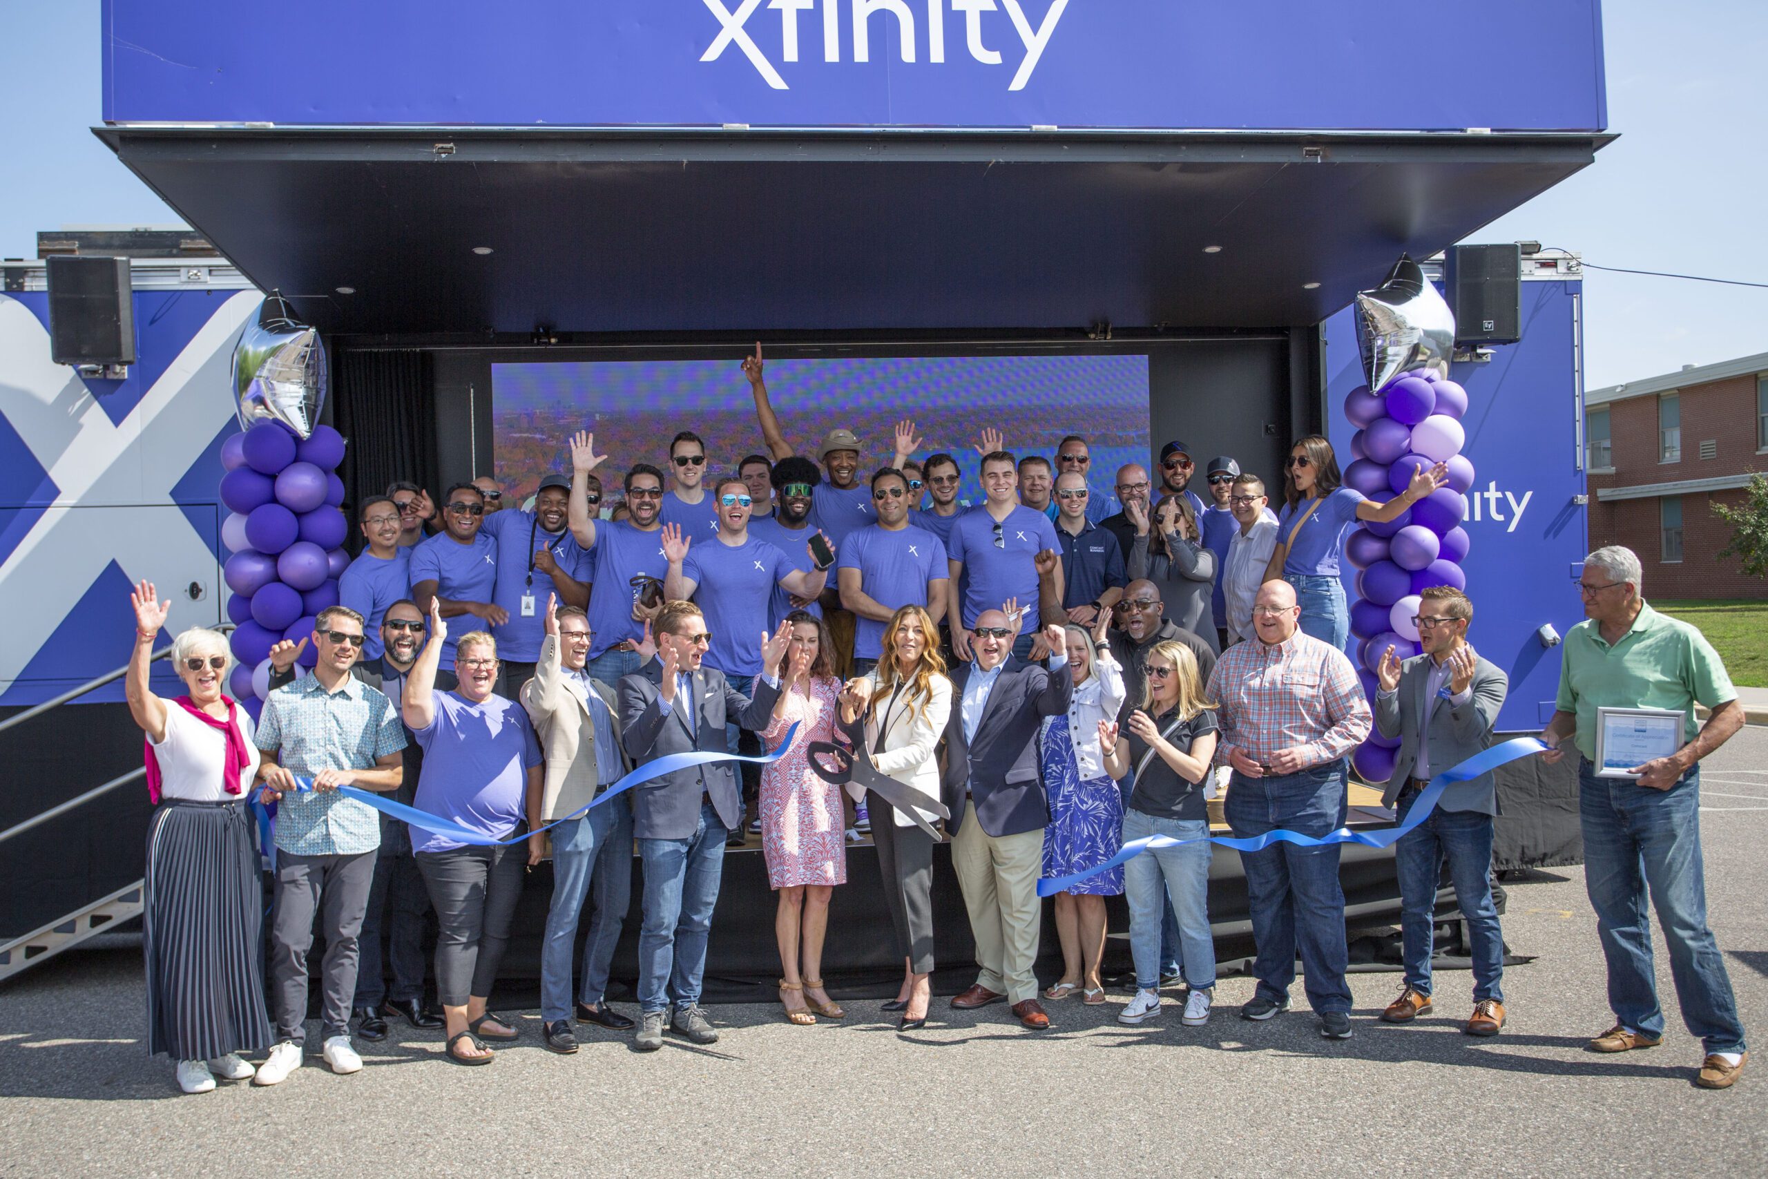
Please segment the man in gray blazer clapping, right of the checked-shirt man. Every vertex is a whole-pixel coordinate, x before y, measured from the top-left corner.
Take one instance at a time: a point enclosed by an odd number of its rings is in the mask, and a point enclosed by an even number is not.
[[[1400,818],[1434,774],[1490,744],[1497,711],[1505,707],[1510,681],[1467,645],[1471,620],[1473,603],[1466,594],[1434,585],[1418,606],[1418,640],[1425,652],[1400,663],[1388,647],[1381,658],[1376,726],[1384,737],[1400,739],[1381,802],[1397,806]],[[1496,1036],[1505,1027],[1505,939],[1490,880],[1496,815],[1492,774],[1480,774],[1448,787],[1430,817],[1393,845],[1406,977],[1400,997],[1381,1015],[1388,1023],[1409,1023],[1430,1011],[1432,909],[1446,859],[1473,940],[1473,1016],[1460,1031]]]

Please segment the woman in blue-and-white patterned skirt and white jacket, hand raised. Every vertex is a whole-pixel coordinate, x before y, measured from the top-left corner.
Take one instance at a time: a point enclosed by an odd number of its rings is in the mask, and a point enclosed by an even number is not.
[[[1043,829],[1043,875],[1066,877],[1105,863],[1123,847],[1123,795],[1105,772],[1100,721],[1123,709],[1123,668],[1112,659],[1101,610],[1094,631],[1068,628],[1068,673],[1075,695],[1066,716],[1043,721],[1038,751],[1043,788],[1050,795],[1050,825]],[[1105,898],[1123,893],[1123,868],[1089,877],[1055,894],[1055,933],[1063,942],[1063,977],[1045,999],[1068,999],[1077,990],[1086,1004],[1105,1002],[1100,958],[1105,955]]]

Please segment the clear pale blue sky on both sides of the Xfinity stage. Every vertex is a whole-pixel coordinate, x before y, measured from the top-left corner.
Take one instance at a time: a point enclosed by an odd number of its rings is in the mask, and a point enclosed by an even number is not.
[[[1404,19],[1404,5],[1390,16]],[[1621,140],[1473,240],[1535,239],[1604,265],[1768,283],[1768,2],[1607,0],[1604,25],[1609,127]],[[175,223],[88,131],[99,120],[97,0],[0,0],[0,256],[32,256],[35,232],[62,224]],[[1551,44],[1475,37],[1441,46],[1420,85],[1453,85],[1489,51],[1554,67]],[[1593,270],[1584,306],[1591,389],[1768,352],[1768,290]]]

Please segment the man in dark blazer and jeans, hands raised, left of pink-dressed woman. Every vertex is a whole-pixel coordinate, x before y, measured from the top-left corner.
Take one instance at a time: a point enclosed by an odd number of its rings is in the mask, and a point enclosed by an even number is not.
[[[711,643],[691,601],[672,601],[656,620],[658,658],[621,677],[621,744],[633,762],[670,753],[725,753],[725,721],[760,732],[780,698],[780,659],[792,640],[783,626],[762,643],[762,686],[750,700],[718,668],[702,666]],[[663,1046],[670,1027],[697,1045],[718,1043],[700,1011],[705,939],[713,928],[725,836],[743,817],[735,765],[688,765],[633,790],[633,834],[645,866],[638,930],[638,1011],[633,1046]]]

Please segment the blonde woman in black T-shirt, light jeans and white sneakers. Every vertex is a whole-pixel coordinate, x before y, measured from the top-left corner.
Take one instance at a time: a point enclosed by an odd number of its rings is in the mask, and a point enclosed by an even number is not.
[[[1123,889],[1130,901],[1130,953],[1135,958],[1135,999],[1119,1023],[1142,1023],[1160,1015],[1162,891],[1179,919],[1179,965],[1190,995],[1181,1022],[1209,1022],[1215,999],[1215,942],[1209,937],[1209,813],[1202,783],[1216,748],[1215,705],[1204,698],[1197,656],[1176,643],[1155,643],[1147,656],[1147,688],[1130,712],[1128,734],[1100,721],[1105,769],[1114,778],[1133,774],[1123,817],[1123,841],[1163,834],[1195,840],[1185,847],[1142,852],[1124,864]]]

